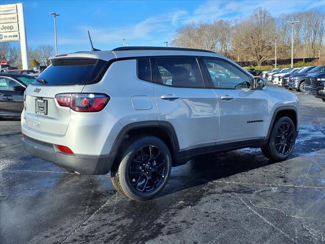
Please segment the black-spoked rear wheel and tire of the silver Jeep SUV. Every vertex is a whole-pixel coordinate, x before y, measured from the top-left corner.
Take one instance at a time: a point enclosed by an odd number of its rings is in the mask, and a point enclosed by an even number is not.
[[[171,173],[168,147],[157,137],[142,136],[124,148],[118,164],[111,169],[114,187],[133,200],[154,198],[164,189]]]

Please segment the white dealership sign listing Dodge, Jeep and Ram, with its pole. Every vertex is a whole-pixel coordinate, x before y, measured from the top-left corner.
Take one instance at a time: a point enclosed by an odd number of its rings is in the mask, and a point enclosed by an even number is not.
[[[27,40],[22,4],[0,5],[0,42],[20,41],[22,68],[28,70]]]

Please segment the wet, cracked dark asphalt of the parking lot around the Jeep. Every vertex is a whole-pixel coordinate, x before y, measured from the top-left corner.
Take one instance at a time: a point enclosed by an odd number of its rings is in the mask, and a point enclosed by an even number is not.
[[[173,168],[165,190],[129,200],[109,175],[62,171],[25,153],[0,122],[1,243],[325,243],[325,102],[298,93],[289,160],[246,148]]]

